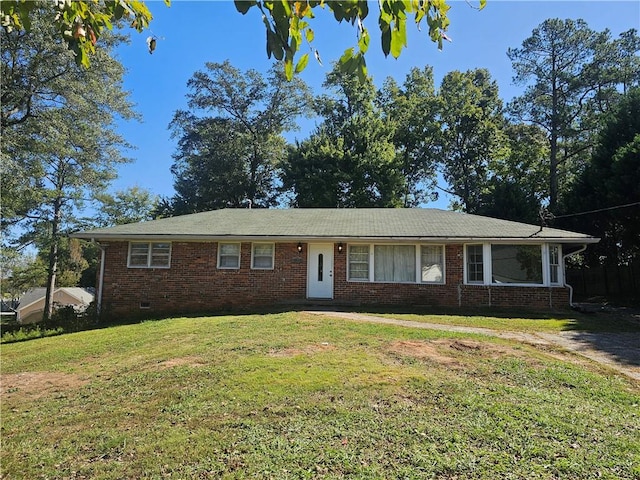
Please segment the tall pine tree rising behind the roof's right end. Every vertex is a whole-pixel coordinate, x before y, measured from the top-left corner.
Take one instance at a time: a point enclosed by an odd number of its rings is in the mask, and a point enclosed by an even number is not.
[[[520,48],[509,49],[516,84],[524,93],[509,104],[511,116],[537,125],[549,143],[549,208],[555,209],[572,173],[588,161],[601,113],[619,89],[638,81],[640,38],[629,30],[612,40],[583,20],[548,19]]]

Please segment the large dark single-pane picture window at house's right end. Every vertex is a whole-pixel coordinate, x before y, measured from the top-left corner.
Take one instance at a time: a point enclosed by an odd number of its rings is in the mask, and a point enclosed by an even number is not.
[[[491,245],[491,283],[542,284],[542,247]]]

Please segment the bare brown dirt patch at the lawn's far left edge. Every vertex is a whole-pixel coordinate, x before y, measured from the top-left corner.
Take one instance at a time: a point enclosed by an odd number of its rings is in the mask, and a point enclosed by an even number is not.
[[[47,395],[63,395],[87,383],[89,379],[72,373],[11,373],[0,375],[0,394],[7,400],[16,396],[34,400]]]

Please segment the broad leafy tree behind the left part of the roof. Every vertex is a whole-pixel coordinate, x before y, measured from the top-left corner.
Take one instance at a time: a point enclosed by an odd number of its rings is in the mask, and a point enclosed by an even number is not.
[[[275,168],[285,155],[282,133],[296,127],[308,104],[307,86],[242,72],[228,61],[208,63],[188,82],[189,110],[175,113],[170,128],[176,195],[163,214],[276,203]]]

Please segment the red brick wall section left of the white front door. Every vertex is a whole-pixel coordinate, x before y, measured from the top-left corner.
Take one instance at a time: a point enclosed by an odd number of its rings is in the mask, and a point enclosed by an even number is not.
[[[307,262],[297,243],[277,243],[273,270],[251,269],[242,243],[240,269],[218,269],[217,242],[174,242],[171,268],[128,268],[127,242],[106,247],[103,310],[107,314],[188,313],[269,306],[306,297]],[[141,304],[148,309],[141,309]],[[146,305],[145,305],[146,306]]]

